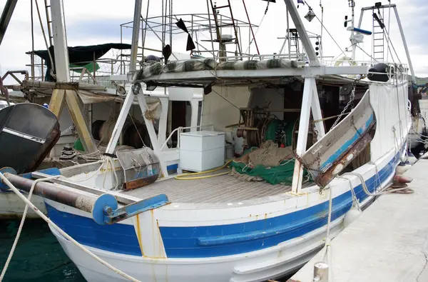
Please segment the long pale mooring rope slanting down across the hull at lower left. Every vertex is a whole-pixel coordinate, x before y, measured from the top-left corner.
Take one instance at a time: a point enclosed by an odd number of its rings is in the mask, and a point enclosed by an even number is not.
[[[92,253],[91,251],[88,250],[88,248],[81,245],[81,243],[78,243],[78,241],[74,240],[73,238],[71,238],[71,236],[69,236],[66,232],[64,232],[61,228],[59,228],[53,221],[51,221],[47,216],[45,216],[41,211],[39,211],[39,208],[36,208],[36,206],[34,206],[34,204],[31,203],[31,201],[29,201],[24,195],[22,195],[21,192],[19,192],[19,190],[1,172],[0,172],[0,178],[1,178],[1,181],[3,181],[7,186],[9,186],[9,188],[11,188],[11,190],[14,191],[14,193],[16,193],[16,195],[19,196],[19,198],[21,198],[22,201],[24,201],[34,212],[36,212],[41,218],[43,218],[44,221],[46,221],[46,223],[48,223],[52,228],[54,228],[56,231],[58,231],[58,233],[60,233],[68,241],[71,241],[71,243],[76,245],[83,252],[87,253],[89,256],[94,258],[96,261],[101,263],[103,266],[110,268],[112,271],[114,271],[118,275],[123,276],[124,278],[128,279],[129,281],[141,282],[141,281],[137,280],[136,278],[133,278],[132,276],[129,276],[128,274],[119,270],[118,268],[112,266],[107,261],[104,261],[103,259],[99,258],[98,256],[96,256],[95,253]],[[44,178],[44,180],[46,180],[46,178]]]

